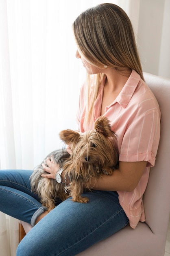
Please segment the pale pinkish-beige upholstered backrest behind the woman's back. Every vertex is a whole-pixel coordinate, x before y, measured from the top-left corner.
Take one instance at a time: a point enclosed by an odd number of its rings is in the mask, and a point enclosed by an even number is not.
[[[170,79],[144,72],[144,79],[161,110],[161,137],[155,166],[144,193],[146,223],[158,236],[166,236],[170,216]]]

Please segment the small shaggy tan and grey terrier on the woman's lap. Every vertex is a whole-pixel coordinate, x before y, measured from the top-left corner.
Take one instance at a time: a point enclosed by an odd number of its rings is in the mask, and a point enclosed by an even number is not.
[[[65,194],[65,184],[59,184],[56,180],[41,177],[44,172],[42,163],[35,168],[31,175],[32,189],[38,193],[41,203],[51,211],[55,207],[55,199],[62,201],[72,197],[74,202],[88,202],[87,197],[82,197],[84,189],[90,190],[91,179],[103,174],[111,175],[118,163],[118,153],[114,148],[113,140],[116,134],[111,130],[109,120],[99,117],[94,130],[77,132],[74,130],[62,130],[59,137],[65,144],[72,146],[72,154],[67,151],[56,150],[47,157],[53,155],[54,161],[61,165],[70,179],[67,186],[69,194]],[[46,158],[47,158],[46,157]],[[45,172],[46,173],[46,172]]]

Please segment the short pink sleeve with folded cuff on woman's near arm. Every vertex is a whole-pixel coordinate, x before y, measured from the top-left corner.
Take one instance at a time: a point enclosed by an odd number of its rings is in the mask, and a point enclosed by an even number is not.
[[[122,162],[147,161],[148,167],[154,166],[159,137],[160,115],[155,108],[134,118],[127,127],[122,140],[119,160]]]

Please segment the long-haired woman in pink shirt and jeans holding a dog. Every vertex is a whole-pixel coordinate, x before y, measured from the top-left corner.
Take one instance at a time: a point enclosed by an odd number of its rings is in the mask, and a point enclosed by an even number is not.
[[[97,184],[92,180],[87,204],[65,200],[50,213],[31,192],[32,171],[1,171],[0,211],[34,226],[17,256],[74,256],[127,224],[135,228],[145,221],[142,195],[155,164],[160,111],[144,83],[131,22],[117,5],[100,4],[81,13],[73,31],[76,58],[88,74],[80,92],[79,130],[93,129],[100,115],[108,117],[118,136],[119,167]],[[46,163],[49,174],[42,176],[55,179],[59,166],[53,159]]]

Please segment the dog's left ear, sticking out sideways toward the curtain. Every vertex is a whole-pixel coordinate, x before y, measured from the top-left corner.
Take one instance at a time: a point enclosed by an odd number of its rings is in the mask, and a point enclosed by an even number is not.
[[[59,133],[59,137],[62,141],[65,142],[65,144],[73,144],[73,143],[77,143],[79,138],[80,138],[80,134],[79,132],[76,132],[74,130],[62,130]]]

